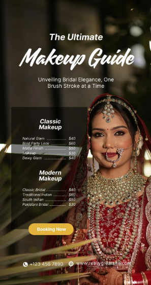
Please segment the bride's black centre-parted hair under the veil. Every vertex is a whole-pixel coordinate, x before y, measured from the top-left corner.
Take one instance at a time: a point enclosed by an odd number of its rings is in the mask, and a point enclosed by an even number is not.
[[[103,100],[103,99],[107,99],[107,96],[103,97],[101,100]],[[123,103],[126,103],[127,106],[129,106],[132,109],[132,107],[129,105],[129,103],[125,102],[122,98],[117,98],[117,97],[112,96],[111,99],[115,99],[115,100],[118,99],[118,100],[122,101]],[[101,100],[99,99],[98,101],[101,101]],[[135,134],[137,132],[137,125],[135,123],[135,120],[134,120],[132,114],[123,105],[118,104],[116,102],[110,102],[110,103],[113,106],[113,109],[115,110],[115,112],[117,111],[123,117],[124,121],[126,122],[126,124],[128,126],[129,132],[131,134],[131,137],[132,137],[132,140],[133,140],[133,143],[134,143]],[[92,135],[92,122],[93,122],[94,117],[97,114],[102,112],[102,109],[103,109],[103,107],[105,105],[106,105],[106,102],[101,102],[98,105],[96,105],[96,107],[92,110],[92,112],[90,112],[90,115],[89,115],[89,125],[88,125],[88,134],[89,134],[89,136]],[[102,114],[102,116],[103,116],[103,114]]]

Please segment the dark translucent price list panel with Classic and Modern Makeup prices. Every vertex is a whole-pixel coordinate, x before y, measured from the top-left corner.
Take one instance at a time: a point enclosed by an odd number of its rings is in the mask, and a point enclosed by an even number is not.
[[[12,108],[12,213],[63,206],[66,196],[57,199],[57,193],[80,151],[86,121],[87,108]],[[71,206],[75,199],[71,188]]]

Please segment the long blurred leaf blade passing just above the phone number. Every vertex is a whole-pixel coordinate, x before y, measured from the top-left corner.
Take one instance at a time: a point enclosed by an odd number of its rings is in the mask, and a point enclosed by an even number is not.
[[[66,250],[71,250],[72,248],[83,246],[85,244],[92,243],[93,241],[96,241],[96,240],[97,239],[86,240],[86,241],[82,241],[79,243],[74,243],[74,244],[70,244],[67,246],[55,247],[52,249],[47,249],[47,250],[43,250],[43,251],[39,251],[35,253],[23,253],[23,254],[16,254],[16,255],[0,257],[0,265],[1,266],[9,265],[9,264],[20,262],[21,260],[28,260],[28,259],[33,259],[33,258],[37,258],[40,256],[63,253]]]

